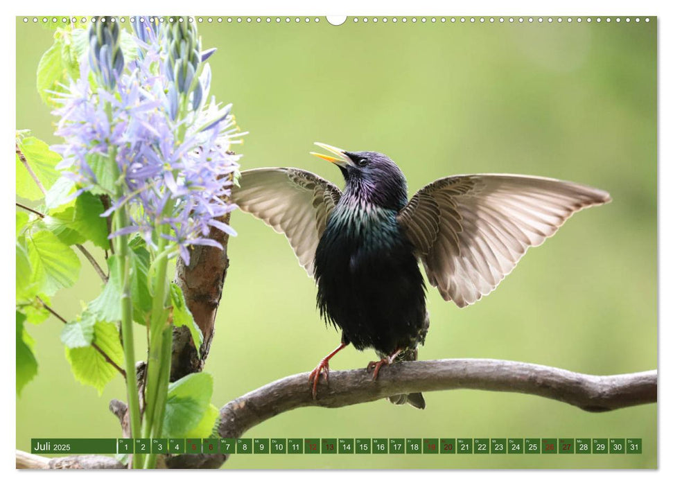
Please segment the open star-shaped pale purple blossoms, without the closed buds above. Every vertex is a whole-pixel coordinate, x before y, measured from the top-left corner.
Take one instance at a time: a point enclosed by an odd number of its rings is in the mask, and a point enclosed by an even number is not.
[[[64,143],[52,148],[63,156],[58,168],[69,170],[64,175],[76,182],[78,193],[110,195],[112,206],[102,216],[127,207],[130,225],[111,238],[139,233],[156,247],[155,238],[161,237],[175,243],[176,252],[189,264],[190,245],[220,247],[209,238],[212,227],[235,235],[217,218],[236,208],[227,201],[239,156],[229,149],[240,143],[241,133],[229,114],[231,105],[220,107],[214,98],[204,102],[210,87],[207,64],[198,99],[193,96],[191,109],[175,119],[166,95],[171,82],[157,74],[159,42],[156,37],[144,40],[151,44],[138,39],[143,55],[127,64],[113,87],[92,88],[89,66],[82,63],[80,78],[57,95],[59,107],[53,114],[60,119],[55,134]],[[122,175],[121,196],[114,181],[105,179],[111,154]]]

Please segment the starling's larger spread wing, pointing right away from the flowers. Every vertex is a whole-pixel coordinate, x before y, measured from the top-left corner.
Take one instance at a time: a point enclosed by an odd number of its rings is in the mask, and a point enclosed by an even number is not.
[[[398,220],[428,280],[459,307],[492,292],[531,246],[585,207],[597,188],[523,175],[457,175],[421,188]]]

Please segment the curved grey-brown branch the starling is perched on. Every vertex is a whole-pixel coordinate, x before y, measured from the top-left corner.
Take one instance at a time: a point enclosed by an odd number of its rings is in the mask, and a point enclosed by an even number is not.
[[[479,389],[532,394],[559,400],[589,412],[603,412],[622,407],[656,403],[657,371],[593,376],[556,367],[525,362],[491,359],[448,359],[400,362],[384,367],[376,381],[365,369],[333,371],[329,385],[324,380],[318,386],[317,399],[311,398],[308,373],[282,378],[232,400],[220,409],[222,438],[238,438],[247,430],[278,414],[298,407],[343,407],[411,392],[451,389]],[[432,405],[432,403],[430,403]],[[123,403],[113,409],[123,418]],[[419,418],[422,418],[419,412]],[[17,451],[17,467],[26,464],[24,452]],[[219,468],[228,455],[168,455],[168,468]],[[87,463],[91,468],[120,468],[121,464],[108,457],[94,455],[69,457]],[[49,468],[55,467],[49,461]],[[112,461],[111,461],[112,460]],[[34,460],[39,468],[44,459]],[[113,463],[114,462],[114,463]],[[69,462],[60,462],[62,464]],[[118,466],[119,465],[119,466]],[[33,467],[31,467],[33,468]],[[72,467],[71,467],[72,468]],[[121,467],[123,468],[123,467]]]

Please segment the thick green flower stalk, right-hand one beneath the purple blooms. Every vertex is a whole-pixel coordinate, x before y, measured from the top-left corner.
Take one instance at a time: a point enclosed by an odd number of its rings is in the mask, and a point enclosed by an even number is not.
[[[157,232],[157,233],[160,233]],[[145,419],[143,422],[143,437],[156,438],[157,426],[161,432],[159,423],[156,423],[157,405],[166,403],[166,394],[168,393],[168,384],[162,389],[161,386],[161,368],[164,367],[164,332],[171,330],[170,324],[167,322],[167,315],[165,310],[166,302],[166,272],[168,267],[168,258],[162,254],[166,246],[166,240],[159,238],[157,254],[161,255],[153,262],[156,270],[153,275],[154,284],[152,285],[152,315],[150,317],[150,342],[147,360],[147,380],[145,387],[146,409]],[[168,324],[168,328],[166,328]],[[170,366],[170,358],[168,365]],[[163,398],[161,396],[164,396]],[[156,455],[148,455],[145,460],[144,468],[149,468],[150,465],[156,463]]]

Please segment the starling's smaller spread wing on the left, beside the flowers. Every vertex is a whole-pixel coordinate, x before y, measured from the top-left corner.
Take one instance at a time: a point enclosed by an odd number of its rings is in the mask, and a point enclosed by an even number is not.
[[[298,168],[255,168],[241,172],[231,199],[276,232],[284,233],[299,264],[313,276],[315,249],[341,191]]]

